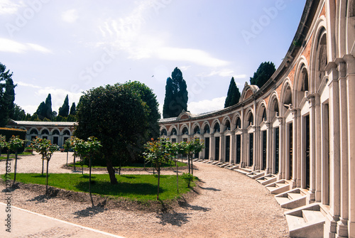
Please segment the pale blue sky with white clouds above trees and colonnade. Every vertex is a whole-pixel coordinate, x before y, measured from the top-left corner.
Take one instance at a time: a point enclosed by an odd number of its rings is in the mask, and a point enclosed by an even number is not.
[[[192,114],[224,107],[258,66],[277,68],[305,0],[0,0],[0,63],[15,103],[33,114],[50,93],[58,112],[83,92],[140,81],[162,113],[166,79],[182,71]]]

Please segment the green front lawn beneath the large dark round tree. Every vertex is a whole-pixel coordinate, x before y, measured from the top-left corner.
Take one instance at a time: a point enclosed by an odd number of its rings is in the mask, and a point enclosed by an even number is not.
[[[13,173],[9,174],[11,179]],[[1,175],[4,179],[5,175]],[[92,175],[92,194],[128,198],[130,200],[156,200],[158,190],[158,175],[116,175],[117,185],[111,185],[108,174]],[[16,181],[45,185],[45,175],[40,173],[17,173]],[[89,175],[75,173],[50,173],[48,185],[55,188],[89,193]],[[191,184],[191,187],[195,183]],[[176,175],[160,175],[160,200],[178,198],[176,191]],[[190,191],[187,183],[179,176],[180,194]]]

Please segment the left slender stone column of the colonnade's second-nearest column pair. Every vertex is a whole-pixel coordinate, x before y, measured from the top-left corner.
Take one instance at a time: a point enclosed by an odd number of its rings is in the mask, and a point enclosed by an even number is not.
[[[315,201],[315,97],[310,95],[310,201]]]

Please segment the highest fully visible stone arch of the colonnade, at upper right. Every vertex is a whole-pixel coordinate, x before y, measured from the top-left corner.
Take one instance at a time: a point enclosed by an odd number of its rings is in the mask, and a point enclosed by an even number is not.
[[[312,38],[310,56],[310,92],[318,92],[323,77],[327,74],[325,66],[328,63],[327,53],[327,22],[324,16],[316,23],[316,33]]]

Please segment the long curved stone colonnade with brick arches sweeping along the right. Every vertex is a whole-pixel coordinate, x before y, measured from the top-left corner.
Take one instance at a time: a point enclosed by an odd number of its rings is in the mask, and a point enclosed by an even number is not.
[[[307,1],[266,85],[246,84],[226,109],[160,119],[160,136],[203,139],[197,161],[266,185],[290,209],[292,237],[355,237],[354,39],[354,0]]]

